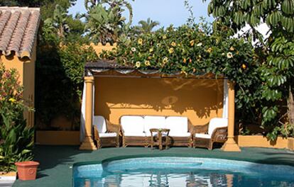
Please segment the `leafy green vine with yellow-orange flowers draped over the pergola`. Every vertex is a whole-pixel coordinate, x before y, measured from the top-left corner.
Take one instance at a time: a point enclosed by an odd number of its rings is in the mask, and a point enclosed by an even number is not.
[[[224,74],[236,82],[237,118],[243,122],[257,120],[261,83],[253,47],[244,40],[227,38],[227,28],[223,29],[211,33],[207,23],[161,28],[121,38],[116,50],[104,52],[102,58],[137,69],[156,68],[165,74],[181,72],[184,77],[205,72]]]

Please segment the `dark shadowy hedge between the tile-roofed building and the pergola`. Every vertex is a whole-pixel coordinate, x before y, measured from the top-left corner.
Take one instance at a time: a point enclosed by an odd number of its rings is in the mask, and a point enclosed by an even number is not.
[[[36,62],[36,118],[42,130],[51,127],[55,118],[65,117],[72,123],[67,130],[80,128],[80,99],[83,67],[97,57],[91,47],[78,43],[40,46]],[[46,86],[44,86],[44,83]]]

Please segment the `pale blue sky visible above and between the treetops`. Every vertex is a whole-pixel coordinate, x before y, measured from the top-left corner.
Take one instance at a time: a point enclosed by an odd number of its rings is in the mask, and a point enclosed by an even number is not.
[[[85,13],[85,0],[77,0],[75,6],[72,6],[69,13]],[[207,21],[212,22],[212,16],[207,15],[207,5],[202,0],[190,0],[190,5],[193,6],[193,13],[196,21],[199,21],[200,16],[206,18]],[[135,0],[130,1],[133,7],[133,25],[137,25],[138,21],[147,20],[151,18],[153,21],[159,21],[160,27],[181,26],[187,22],[189,13],[184,6],[184,0]],[[129,15],[126,13],[126,17]]]

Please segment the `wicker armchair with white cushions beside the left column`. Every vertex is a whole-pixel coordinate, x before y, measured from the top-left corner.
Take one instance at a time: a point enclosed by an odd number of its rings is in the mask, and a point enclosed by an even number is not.
[[[93,132],[94,142],[96,142],[97,149],[101,147],[119,147],[120,126],[114,125],[105,120],[101,115],[93,118]]]

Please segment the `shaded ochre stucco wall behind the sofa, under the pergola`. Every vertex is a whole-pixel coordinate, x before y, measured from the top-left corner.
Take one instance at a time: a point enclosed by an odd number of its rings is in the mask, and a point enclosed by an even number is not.
[[[95,115],[183,115],[193,125],[222,116],[222,79],[95,77]]]

